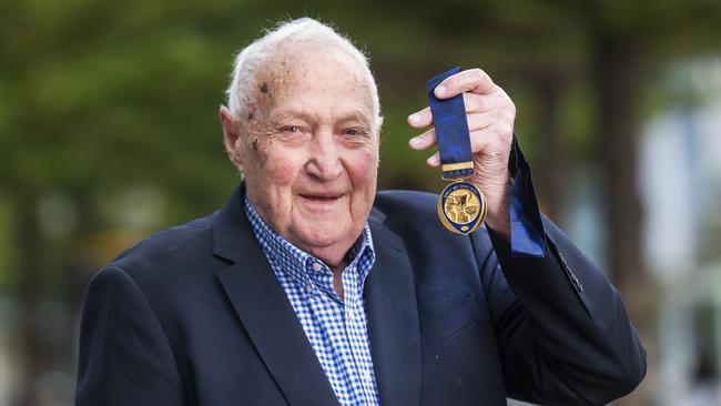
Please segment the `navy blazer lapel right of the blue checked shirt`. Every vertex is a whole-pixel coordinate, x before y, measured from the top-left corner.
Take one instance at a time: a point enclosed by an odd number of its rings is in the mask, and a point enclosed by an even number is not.
[[[376,262],[365,283],[368,334],[382,405],[420,398],[420,327],[410,262],[400,238],[370,220]]]

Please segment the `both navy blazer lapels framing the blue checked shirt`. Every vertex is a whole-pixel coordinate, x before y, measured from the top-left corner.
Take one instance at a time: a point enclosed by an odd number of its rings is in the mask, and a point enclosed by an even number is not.
[[[213,253],[233,264],[219,280],[291,405],[337,405],[333,388],[243,212],[241,184],[213,221]],[[402,240],[369,217],[376,262],[365,283],[368,335],[383,405],[420,396],[420,333],[410,262]]]

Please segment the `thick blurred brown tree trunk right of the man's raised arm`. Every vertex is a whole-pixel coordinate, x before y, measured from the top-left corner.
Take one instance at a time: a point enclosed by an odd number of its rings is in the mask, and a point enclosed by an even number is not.
[[[642,61],[639,50],[628,40],[605,33],[598,35],[593,55],[600,119],[596,149],[603,180],[607,270],[623,296],[652,363],[653,312],[642,253],[643,219],[637,180]],[[647,376],[644,382],[649,380]],[[621,404],[647,404],[647,392],[641,388]]]

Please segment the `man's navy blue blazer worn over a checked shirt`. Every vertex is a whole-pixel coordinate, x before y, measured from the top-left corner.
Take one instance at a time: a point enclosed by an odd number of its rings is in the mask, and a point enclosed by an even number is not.
[[[85,296],[78,405],[337,405],[242,210],[151,236]],[[436,197],[378,193],[364,297],[383,405],[600,405],[646,353],[618,292],[544,219],[544,257],[441,227]]]

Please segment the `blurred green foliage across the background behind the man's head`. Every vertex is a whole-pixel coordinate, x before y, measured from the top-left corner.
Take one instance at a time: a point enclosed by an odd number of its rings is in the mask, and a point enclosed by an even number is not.
[[[0,193],[31,190],[34,205],[67,196],[82,211],[78,238],[118,226],[103,202],[138,187],[164,196],[149,227],[213,210],[238,181],[217,123],[232,57],[262,28],[299,16],[334,22],[372,57],[385,115],[379,185],[437,190],[428,154],[407,148],[416,133],[406,124],[426,105],[424,84],[433,74],[454,65],[487,70],[516,101],[517,132],[531,140],[524,145],[532,161],[542,119],[532,84],[539,72],[559,72],[568,81],[560,89],[566,142],[590,154],[596,122],[588,72],[599,33],[638,44],[651,61],[672,60],[712,47],[721,7],[682,0],[6,1]],[[12,217],[18,206],[8,202],[3,216]],[[7,222],[0,229],[12,235]]]

